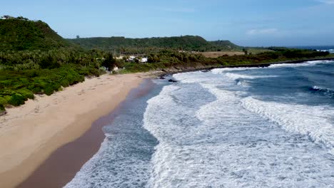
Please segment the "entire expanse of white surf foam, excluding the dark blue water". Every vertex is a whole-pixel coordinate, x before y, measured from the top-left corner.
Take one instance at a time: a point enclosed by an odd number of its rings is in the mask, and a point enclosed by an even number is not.
[[[143,115],[151,161],[108,135],[66,187],[333,187],[333,108],[243,98],[236,78],[262,75],[235,70],[173,75]]]

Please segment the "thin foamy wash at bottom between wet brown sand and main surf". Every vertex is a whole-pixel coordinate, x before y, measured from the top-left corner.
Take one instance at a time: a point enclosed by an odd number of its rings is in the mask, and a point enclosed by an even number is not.
[[[142,187],[149,178],[150,164],[136,155],[124,155],[124,140],[108,140],[107,135],[96,155],[86,162],[66,188]]]

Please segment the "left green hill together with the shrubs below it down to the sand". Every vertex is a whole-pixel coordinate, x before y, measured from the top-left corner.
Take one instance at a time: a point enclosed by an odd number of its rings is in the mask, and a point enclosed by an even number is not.
[[[51,95],[62,87],[98,76],[109,53],[83,51],[42,21],[23,17],[0,20],[0,114],[36,93]]]

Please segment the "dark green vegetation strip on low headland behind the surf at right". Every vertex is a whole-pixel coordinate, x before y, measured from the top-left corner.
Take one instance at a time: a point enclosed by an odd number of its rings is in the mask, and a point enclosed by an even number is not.
[[[277,61],[293,61],[328,56],[328,52],[285,49],[285,51],[267,51],[243,56],[221,56],[206,58],[200,53],[181,53],[177,51],[161,51],[148,56],[144,64],[125,63],[123,73],[152,70],[183,71],[193,68],[210,68],[223,66],[242,66]]]

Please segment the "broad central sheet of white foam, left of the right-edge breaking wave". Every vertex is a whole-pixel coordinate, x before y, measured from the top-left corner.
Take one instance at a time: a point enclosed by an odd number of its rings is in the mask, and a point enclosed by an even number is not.
[[[148,100],[144,127],[159,141],[147,187],[331,187],[334,161],[308,137],[243,108],[224,75],[182,73]],[[225,82],[223,81],[225,80]],[[187,99],[200,84],[216,100]],[[223,87],[222,87],[223,86]],[[191,86],[187,86],[191,87]],[[223,89],[222,89],[223,88]],[[225,88],[225,89],[224,89]],[[189,108],[191,103],[191,108]]]

